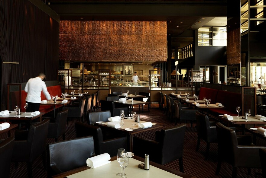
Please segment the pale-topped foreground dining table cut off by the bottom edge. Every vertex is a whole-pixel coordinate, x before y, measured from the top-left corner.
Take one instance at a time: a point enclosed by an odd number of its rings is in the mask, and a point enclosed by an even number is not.
[[[64,173],[52,176],[53,178],[87,178],[87,177],[97,177],[97,178],[117,178],[116,174],[121,171],[121,167],[117,161],[117,157],[113,156],[109,160],[108,164],[92,169],[88,166],[79,167]],[[128,166],[125,168],[126,177],[138,177],[138,178],[196,178],[188,174],[179,172],[172,168],[163,166],[161,164],[150,161],[150,169],[144,170],[138,168],[139,164],[144,164],[144,158],[139,156],[129,157]]]

